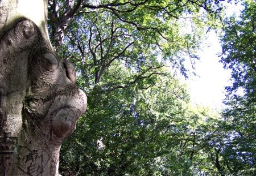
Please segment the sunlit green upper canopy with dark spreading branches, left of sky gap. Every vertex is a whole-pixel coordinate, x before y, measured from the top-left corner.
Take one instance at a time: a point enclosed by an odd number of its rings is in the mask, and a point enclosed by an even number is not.
[[[184,58],[197,58],[195,50],[205,33],[205,23],[216,20],[210,14],[218,8],[218,1],[79,1],[74,5],[79,3],[81,8],[65,26],[66,38],[58,50],[65,58],[76,58],[77,69],[90,84],[98,83],[114,60],[136,71],[152,67],[150,62],[159,65],[168,61],[172,69],[185,75]],[[55,1],[49,6],[49,16],[54,16],[54,4],[59,12],[68,11],[67,3]],[[49,24],[54,30],[52,20]],[[192,30],[183,25],[184,20]],[[53,36],[54,31],[50,33]]]

